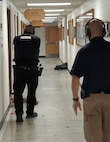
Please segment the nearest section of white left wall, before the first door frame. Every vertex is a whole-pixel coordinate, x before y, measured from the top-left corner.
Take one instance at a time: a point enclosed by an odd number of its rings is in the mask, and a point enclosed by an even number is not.
[[[0,2],[0,23],[2,24],[1,36],[3,47],[0,47],[0,120],[9,105],[9,76],[8,76],[8,36],[7,36],[7,4]],[[5,17],[5,18],[4,18]]]

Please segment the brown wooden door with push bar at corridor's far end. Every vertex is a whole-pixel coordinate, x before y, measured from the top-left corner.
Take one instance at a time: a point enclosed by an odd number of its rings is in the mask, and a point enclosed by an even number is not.
[[[45,28],[46,55],[59,54],[59,32],[57,26]]]

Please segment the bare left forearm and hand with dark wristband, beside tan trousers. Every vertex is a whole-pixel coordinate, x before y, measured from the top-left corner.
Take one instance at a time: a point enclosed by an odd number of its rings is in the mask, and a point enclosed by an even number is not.
[[[79,77],[73,75],[72,76],[73,109],[76,115],[77,115],[77,108],[82,110],[78,95],[79,84],[80,84]]]

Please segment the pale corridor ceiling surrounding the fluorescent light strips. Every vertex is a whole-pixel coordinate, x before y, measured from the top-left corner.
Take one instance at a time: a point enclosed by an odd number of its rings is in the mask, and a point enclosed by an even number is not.
[[[26,9],[64,9],[63,12],[55,12],[55,13],[59,13],[60,15],[57,16],[57,18],[55,19],[54,22],[59,21],[60,19],[62,19],[64,16],[66,16],[68,13],[70,13],[71,11],[73,11],[75,8],[77,8],[78,6],[80,6],[83,2],[87,1],[87,0],[11,0],[14,5],[22,12],[24,13],[24,11]],[[40,6],[40,7],[29,7],[27,6],[27,3],[67,3],[67,2],[71,2],[71,5],[68,6]],[[50,13],[50,12],[49,12]],[[54,12],[52,12],[53,14]],[[56,16],[55,16],[56,17]]]

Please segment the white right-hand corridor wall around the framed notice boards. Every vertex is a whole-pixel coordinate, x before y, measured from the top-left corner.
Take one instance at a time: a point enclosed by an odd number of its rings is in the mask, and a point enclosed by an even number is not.
[[[75,18],[86,11],[89,11],[90,9],[94,9],[94,17],[99,18],[103,21],[110,21],[110,0],[90,0],[82,4],[80,7],[72,11],[67,16],[67,21],[70,19],[74,19],[74,25],[75,25]],[[62,19],[63,22],[63,19]],[[66,26],[66,25],[65,25]],[[68,40],[68,37],[67,37]],[[107,40],[110,40],[108,38]],[[67,49],[63,49],[63,42],[60,43],[60,55],[61,56],[67,56],[67,62],[68,62],[68,69],[71,70],[74,58],[76,56],[77,51],[81,48],[76,45],[76,39],[74,39],[74,45],[71,45],[67,42]],[[67,54],[63,54],[64,50],[67,50]],[[61,59],[63,60],[64,57]]]

